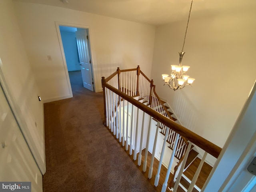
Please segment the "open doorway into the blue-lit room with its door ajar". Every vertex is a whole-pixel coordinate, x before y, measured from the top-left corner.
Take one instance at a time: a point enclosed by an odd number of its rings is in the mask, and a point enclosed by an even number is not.
[[[88,29],[65,25],[57,27],[60,30],[60,45],[64,51],[72,93],[81,88],[94,92]]]

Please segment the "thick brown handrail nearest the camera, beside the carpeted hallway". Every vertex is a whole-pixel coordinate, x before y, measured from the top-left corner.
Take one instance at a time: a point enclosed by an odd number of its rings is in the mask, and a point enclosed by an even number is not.
[[[177,132],[178,134],[180,134],[181,136],[186,138],[188,141],[196,144],[198,147],[202,148],[204,151],[208,152],[215,158],[218,158],[218,156],[221,152],[221,148],[219,146],[213,144],[212,142],[206,140],[205,138],[199,136],[198,134],[188,130],[184,126],[177,124],[173,120],[156,112],[155,110],[151,109],[150,107],[140,103],[139,101],[135,100],[134,98],[131,98],[130,96],[124,94],[123,92],[114,88],[113,86],[110,86],[109,84],[106,83],[106,80],[104,77],[102,77],[102,87],[103,88],[106,87],[109,90],[111,90],[112,92],[118,94],[119,96],[121,96],[122,98],[124,98],[125,100],[127,100],[128,102],[133,104],[134,106],[138,107],[140,110],[146,112],[147,114],[149,114],[150,116],[152,116],[153,118],[158,120],[159,122],[163,123],[167,127],[171,128],[172,130],[174,130],[175,132]]]

